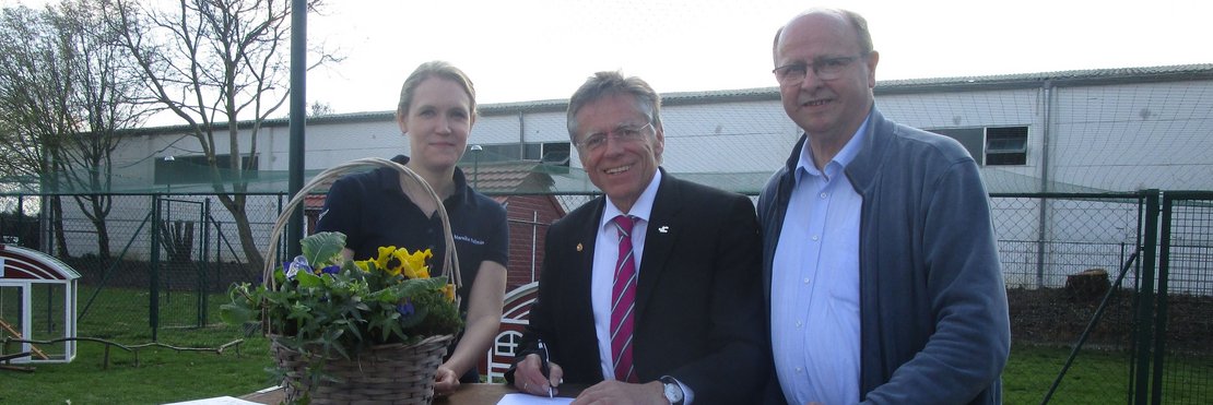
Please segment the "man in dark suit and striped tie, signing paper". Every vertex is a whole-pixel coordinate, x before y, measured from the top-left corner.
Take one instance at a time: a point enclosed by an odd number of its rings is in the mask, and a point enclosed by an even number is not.
[[[507,373],[522,392],[564,382],[591,386],[575,404],[735,404],[767,382],[753,204],[659,167],[660,108],[648,84],[619,73],[596,74],[569,101],[570,138],[606,195],[548,229]]]

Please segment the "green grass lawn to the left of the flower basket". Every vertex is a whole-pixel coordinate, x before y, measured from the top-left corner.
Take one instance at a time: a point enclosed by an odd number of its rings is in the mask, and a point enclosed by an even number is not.
[[[125,346],[152,342],[148,326],[146,290],[95,289],[82,286],[78,293],[79,318],[76,335],[96,337]],[[61,337],[41,331],[47,313],[62,312],[62,291],[34,289],[34,338]],[[51,300],[46,300],[50,295]],[[4,308],[15,308],[12,292],[0,301]],[[91,301],[90,301],[91,300]],[[177,352],[164,347],[146,347],[136,352],[119,348],[109,350],[109,366],[104,367],[106,344],[80,341],[76,358],[70,364],[36,364],[34,372],[0,371],[0,404],[163,404],[199,398],[239,397],[269,387],[269,343],[264,337],[245,337],[238,327],[218,321],[218,306],[226,295],[207,296],[205,327],[198,327],[198,300],[192,292],[171,292],[160,297],[160,329],[156,342],[188,348],[217,348],[244,340],[239,349],[213,352]],[[85,308],[87,306],[87,312]],[[6,319],[17,319],[13,310]],[[56,325],[57,326],[57,325]],[[62,326],[57,326],[61,329]],[[63,346],[44,347],[62,354]],[[10,352],[16,352],[10,347]]]

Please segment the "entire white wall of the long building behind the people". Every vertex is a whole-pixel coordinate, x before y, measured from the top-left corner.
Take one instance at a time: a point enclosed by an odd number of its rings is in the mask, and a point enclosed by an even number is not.
[[[1047,99],[1052,95],[1052,101]],[[667,104],[662,112],[666,148],[664,166],[674,173],[773,172],[787,158],[799,137],[799,130],[784,114],[778,99],[744,102],[707,102],[693,104],[685,99]],[[991,166],[983,171],[1003,171],[1038,178],[1046,173],[1052,182],[1069,183],[1111,192],[1141,188],[1213,189],[1213,81],[1144,82],[1041,89],[956,91],[936,93],[889,93],[877,96],[876,105],[885,116],[923,129],[980,126],[1027,126],[1027,164]],[[482,107],[483,108],[483,107]],[[1049,110],[1046,110],[1050,108]],[[501,110],[500,108],[497,109]],[[318,120],[307,127],[306,170],[315,171],[335,164],[365,158],[391,158],[409,154],[408,139],[389,113],[375,120]],[[1046,119],[1052,125],[1046,127]],[[1044,133],[1048,130],[1048,146]],[[258,138],[260,167],[287,170],[289,129],[285,125],[263,127]],[[517,144],[568,142],[565,114],[557,112],[494,113],[482,115],[473,126],[468,144]],[[249,142],[247,133],[241,143]],[[226,141],[216,144],[227,153]],[[1044,167],[1048,147],[1048,167]],[[571,148],[570,166],[580,169],[576,148]],[[166,155],[201,154],[197,139],[183,133],[133,136],[115,152],[118,177],[126,182],[150,184],[156,159]],[[585,184],[582,184],[585,186]],[[203,190],[206,186],[173,186],[173,192]],[[285,182],[274,187],[285,190]],[[143,196],[139,199],[150,199]],[[141,201],[139,199],[132,201]],[[200,200],[201,196],[182,196]],[[1044,210],[1046,228],[1041,235],[1038,199],[998,200],[995,221],[1000,238],[1021,241],[1020,253],[1004,253],[1008,283],[1036,283],[1036,259],[1016,258],[1035,255],[1035,241],[1076,241],[1093,245],[1049,245],[1044,261],[1048,273],[1069,274],[1086,269],[1084,255],[1097,255],[1109,270],[1118,266],[1118,252],[1095,252],[1118,244],[1132,244],[1137,224],[1135,205],[1098,202],[1076,209],[1066,201],[1049,201]],[[176,217],[187,217],[182,204]],[[74,204],[66,204],[69,218],[80,219]],[[250,206],[258,240],[268,239],[268,226],[277,218],[278,201],[256,200]],[[137,227],[149,211],[147,204],[113,210],[109,221],[123,227]],[[1076,213],[1077,212],[1077,213]],[[211,215],[230,224],[227,213],[212,198]],[[1111,230],[1109,230],[1111,229]],[[232,234],[234,228],[226,229]],[[147,232],[144,230],[144,234]],[[89,229],[69,235],[73,255],[96,249]],[[126,239],[115,238],[120,249]],[[142,246],[142,247],[139,247]],[[132,246],[132,257],[147,256],[148,243]],[[237,249],[239,253],[239,249]],[[115,252],[116,253],[116,252]],[[1035,257],[1035,256],[1032,256]],[[1063,278],[1044,280],[1059,286]]]

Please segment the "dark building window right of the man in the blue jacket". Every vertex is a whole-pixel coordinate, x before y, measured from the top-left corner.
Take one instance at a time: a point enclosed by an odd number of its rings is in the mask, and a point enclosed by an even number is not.
[[[1027,127],[992,126],[929,130],[956,139],[983,166],[1027,164]]]

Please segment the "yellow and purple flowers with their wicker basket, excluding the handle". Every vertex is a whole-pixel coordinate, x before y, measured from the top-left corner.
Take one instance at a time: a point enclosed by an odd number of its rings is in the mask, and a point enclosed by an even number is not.
[[[428,250],[385,246],[352,261],[344,246],[341,233],[302,239],[302,255],[266,283],[232,286],[223,320],[261,323],[289,401],[428,403],[434,371],[462,327],[456,284],[431,276]]]

